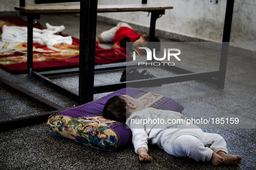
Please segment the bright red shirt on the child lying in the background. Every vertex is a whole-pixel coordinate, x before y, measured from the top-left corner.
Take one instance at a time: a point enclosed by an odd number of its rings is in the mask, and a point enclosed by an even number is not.
[[[133,29],[128,27],[120,27],[113,39],[113,44],[117,43],[117,45],[121,46],[119,41],[122,40],[125,37],[130,38],[130,42],[136,41],[137,38],[139,38],[141,35],[137,32],[135,32]]]

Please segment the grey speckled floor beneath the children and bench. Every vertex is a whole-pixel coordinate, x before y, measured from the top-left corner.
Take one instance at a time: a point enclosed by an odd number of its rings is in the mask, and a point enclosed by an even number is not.
[[[77,16],[42,16],[39,22],[44,25],[65,25],[65,34],[79,38],[79,18]],[[97,34],[111,28],[112,25],[97,23]],[[169,41],[164,40],[162,41]],[[110,47],[110,44],[103,47]],[[183,44],[184,45],[184,44]],[[187,45],[184,48],[194,50]],[[180,66],[205,71],[217,67],[218,58],[185,57]],[[217,61],[217,62],[216,62]],[[166,72],[150,70],[155,76],[166,76]],[[172,73],[173,74],[173,73]],[[114,75],[114,76],[113,76]],[[121,72],[96,74],[95,84],[102,82],[118,82]],[[61,105],[71,107],[76,102],[42,85],[34,79],[23,75],[12,75],[0,69],[0,76],[20,85],[42,97]],[[112,79],[114,77],[114,80]],[[111,80],[110,80],[111,78]],[[55,81],[78,91],[78,76],[55,78]],[[227,142],[230,154],[243,157],[240,166],[213,167],[210,163],[196,162],[189,158],[174,157],[156,146],[149,147],[152,163],[142,163],[134,153],[132,145],[114,151],[101,151],[89,146],[52,135],[45,123],[0,133],[0,169],[223,169],[250,170],[256,169],[256,61],[242,56],[229,55],[225,88],[220,90],[198,81],[180,82],[145,87],[147,91],[168,96],[185,107],[183,114],[194,119],[209,117],[237,117],[236,126],[230,124],[214,124],[214,129],[200,125],[204,132],[218,133]],[[0,121],[11,120],[23,116],[44,113],[49,110],[9,91],[0,85]],[[105,94],[95,94],[94,99]],[[45,120],[46,122],[47,120]]]

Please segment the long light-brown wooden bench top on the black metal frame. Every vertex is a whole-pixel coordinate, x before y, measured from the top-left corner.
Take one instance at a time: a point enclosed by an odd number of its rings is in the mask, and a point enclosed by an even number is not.
[[[14,7],[15,10],[25,13],[80,13],[80,5],[69,6],[21,6]],[[119,4],[119,5],[98,5],[98,13],[106,12],[130,12],[173,9],[173,6],[160,3],[147,4]]]

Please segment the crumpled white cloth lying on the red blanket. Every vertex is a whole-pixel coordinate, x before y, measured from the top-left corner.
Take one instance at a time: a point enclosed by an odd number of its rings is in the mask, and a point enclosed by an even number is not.
[[[64,25],[52,26],[46,23],[46,28],[47,29],[33,28],[34,42],[47,45],[72,44],[71,36],[63,37],[61,35],[55,35],[65,29]],[[2,30],[3,42],[27,42],[27,27],[3,25]]]

